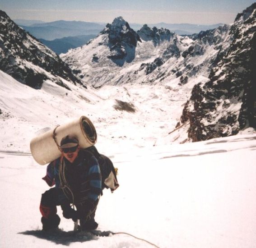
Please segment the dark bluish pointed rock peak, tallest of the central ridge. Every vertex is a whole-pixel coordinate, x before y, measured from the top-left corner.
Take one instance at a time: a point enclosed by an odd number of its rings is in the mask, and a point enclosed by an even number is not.
[[[108,58],[122,66],[125,61],[130,63],[135,58],[135,47],[140,41],[139,35],[130,28],[122,18],[115,18],[112,24],[107,24],[101,34],[108,34],[111,55]]]

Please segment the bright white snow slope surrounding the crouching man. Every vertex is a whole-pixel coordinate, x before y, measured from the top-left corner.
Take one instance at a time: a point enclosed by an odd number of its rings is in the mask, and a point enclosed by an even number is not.
[[[97,91],[66,84],[72,92],[50,81],[35,90],[0,71],[0,247],[153,247],[126,234],[74,235],[73,222],[63,217],[61,231],[40,231],[46,166],[33,160],[29,142],[81,115],[93,121],[97,148],[119,172],[121,186],[113,194],[104,190],[100,200],[99,230],[133,234],[161,248],[256,246],[256,134],[251,129],[179,144],[186,135],[168,132],[187,97],[170,91],[174,85]],[[137,111],[115,110],[115,99],[133,102]]]

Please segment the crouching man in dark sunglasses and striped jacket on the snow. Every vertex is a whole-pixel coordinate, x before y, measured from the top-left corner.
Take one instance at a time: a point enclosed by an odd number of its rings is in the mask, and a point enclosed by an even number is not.
[[[97,159],[79,147],[78,139],[67,135],[61,140],[61,157],[47,166],[43,178],[51,188],[42,194],[40,212],[42,229],[56,229],[60,224],[56,206],[61,206],[63,216],[80,220],[82,230],[98,227],[94,216],[102,193],[102,178]],[[77,210],[70,206],[73,204]]]

